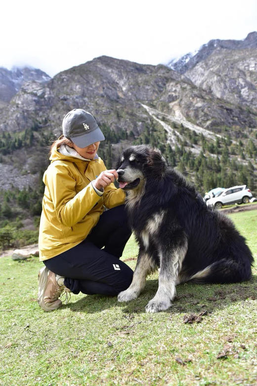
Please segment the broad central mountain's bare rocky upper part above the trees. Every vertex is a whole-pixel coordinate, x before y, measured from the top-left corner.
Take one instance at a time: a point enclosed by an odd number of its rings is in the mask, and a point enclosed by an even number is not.
[[[107,56],[57,74],[45,83],[29,82],[0,113],[0,132],[17,133],[39,127],[60,134],[61,121],[72,108],[92,112],[100,124],[140,135],[156,114],[169,115],[171,122],[195,125],[220,132],[255,127],[256,115],[241,106],[210,97],[188,78],[164,65],[152,66]],[[187,123],[186,123],[187,122]]]

